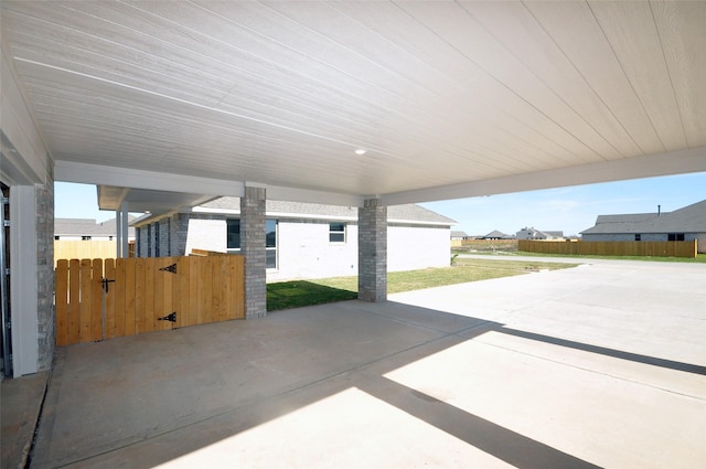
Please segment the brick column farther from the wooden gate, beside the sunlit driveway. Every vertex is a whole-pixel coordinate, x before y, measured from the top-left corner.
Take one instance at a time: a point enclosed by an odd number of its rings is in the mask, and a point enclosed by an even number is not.
[[[387,207],[368,199],[357,211],[357,297],[387,300]]]

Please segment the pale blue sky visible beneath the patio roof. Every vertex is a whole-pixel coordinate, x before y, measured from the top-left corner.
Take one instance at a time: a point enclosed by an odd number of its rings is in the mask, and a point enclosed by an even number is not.
[[[482,235],[499,230],[515,234],[525,226],[574,235],[590,228],[598,215],[671,212],[706,199],[706,172],[575,185],[542,191],[429,202],[420,205],[456,220],[453,230]],[[98,211],[95,185],[56,183],[58,218],[115,217]]]

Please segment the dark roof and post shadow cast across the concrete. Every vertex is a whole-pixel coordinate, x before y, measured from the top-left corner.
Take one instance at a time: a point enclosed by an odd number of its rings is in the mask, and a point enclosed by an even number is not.
[[[384,376],[490,331],[704,372],[478,318],[345,301],[60,349],[32,467],[151,468],[350,388],[514,466],[596,467]]]

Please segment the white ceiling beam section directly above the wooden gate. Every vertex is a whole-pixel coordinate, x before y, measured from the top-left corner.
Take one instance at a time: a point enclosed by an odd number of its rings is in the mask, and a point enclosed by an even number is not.
[[[244,183],[169,172],[143,171],[103,164],[56,161],[54,179],[62,182],[115,185],[118,188],[184,192],[204,195],[242,196]]]

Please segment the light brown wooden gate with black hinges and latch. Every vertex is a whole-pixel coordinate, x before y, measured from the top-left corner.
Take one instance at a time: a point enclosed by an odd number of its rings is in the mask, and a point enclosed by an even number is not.
[[[245,317],[244,258],[60,259],[56,345]]]

